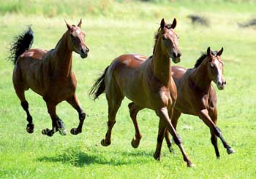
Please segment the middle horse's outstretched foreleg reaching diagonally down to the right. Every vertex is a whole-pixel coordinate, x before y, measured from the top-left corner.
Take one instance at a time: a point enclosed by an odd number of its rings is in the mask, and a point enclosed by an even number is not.
[[[183,147],[182,142],[181,142],[181,138],[178,136],[176,130],[173,127],[173,124],[171,124],[171,122],[170,122],[170,118],[168,116],[167,108],[160,108],[159,110],[156,110],[156,114],[157,114],[157,116],[159,116],[160,120],[162,120],[165,128],[173,136],[174,142],[176,143],[178,148],[180,148],[180,150],[181,150],[184,162],[187,162],[187,167],[192,167],[193,164],[190,161],[189,157],[187,156],[187,154],[184,150],[184,147]]]

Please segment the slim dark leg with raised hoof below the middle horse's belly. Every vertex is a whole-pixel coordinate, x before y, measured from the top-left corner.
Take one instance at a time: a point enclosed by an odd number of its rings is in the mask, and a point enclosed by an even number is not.
[[[129,116],[132,119],[133,125],[135,127],[135,137],[132,138],[132,147],[138,148],[140,145],[140,139],[142,138],[142,135],[140,134],[140,129],[137,122],[137,114],[142,109],[139,106],[137,106],[135,103],[129,103]]]

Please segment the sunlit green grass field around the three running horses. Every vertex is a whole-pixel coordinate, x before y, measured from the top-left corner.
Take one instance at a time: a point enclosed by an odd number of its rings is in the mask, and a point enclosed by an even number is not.
[[[211,26],[192,25],[187,18],[191,14],[207,17]],[[88,115],[83,133],[42,135],[43,128],[51,127],[50,117],[42,98],[29,90],[26,98],[35,124],[30,135],[12,87],[13,65],[6,60],[7,48],[31,24],[32,47],[52,49],[66,31],[64,19],[77,24],[80,17],[90,48],[86,60],[73,55],[77,95]],[[155,161],[159,120],[153,111],[140,112],[143,138],[139,148],[132,148],[135,130],[129,119],[129,100],[118,111],[112,144],[100,145],[107,130],[108,106],[105,95],[91,100],[89,88],[118,55],[151,55],[162,17],[170,23],[173,17],[178,20],[182,52],[178,65],[192,68],[207,47],[224,47],[227,86],[217,91],[218,126],[236,154],[227,155],[219,140],[221,159],[217,160],[208,127],[195,116],[182,115],[178,133],[196,167],[186,167],[177,146],[175,154],[170,154],[165,141],[162,161]],[[256,1],[0,0],[0,178],[256,178],[256,28],[237,24],[252,17],[256,17]],[[78,114],[66,102],[59,104],[57,113],[68,131],[77,126]]]

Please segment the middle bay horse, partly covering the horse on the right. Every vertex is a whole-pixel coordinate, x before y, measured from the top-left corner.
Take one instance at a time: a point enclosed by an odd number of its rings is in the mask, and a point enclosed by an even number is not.
[[[116,113],[125,96],[132,100],[132,103],[129,103],[130,111],[136,113],[143,108],[150,108],[159,116],[154,159],[160,159],[162,136],[166,128],[181,149],[187,166],[192,167],[181,138],[170,122],[177,98],[176,85],[171,77],[170,58],[174,63],[178,63],[181,59],[178,36],[173,30],[176,27],[176,19],[172,24],[167,24],[162,19],[160,24],[151,57],[146,59],[144,56],[131,54],[117,57],[95,81],[89,94],[94,95],[95,100],[105,92],[108,100],[108,131],[105,139],[101,141],[102,146],[109,146],[111,143],[111,131],[116,123]],[[133,143],[136,145],[140,138],[140,135],[136,135]]]

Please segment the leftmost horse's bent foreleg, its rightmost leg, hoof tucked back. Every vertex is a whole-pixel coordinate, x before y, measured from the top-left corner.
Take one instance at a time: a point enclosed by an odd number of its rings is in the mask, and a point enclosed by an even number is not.
[[[79,103],[78,98],[77,98],[76,95],[73,95],[71,98],[69,98],[67,100],[67,103],[69,103],[73,108],[75,108],[76,111],[78,111],[78,116],[79,116],[78,127],[77,128],[72,128],[70,130],[70,133],[72,135],[78,135],[80,132],[82,132],[83,122],[84,122],[84,119],[86,119],[86,113],[81,108],[80,103]]]

